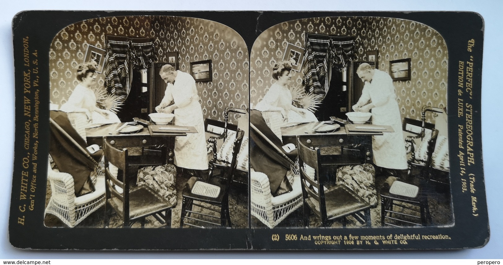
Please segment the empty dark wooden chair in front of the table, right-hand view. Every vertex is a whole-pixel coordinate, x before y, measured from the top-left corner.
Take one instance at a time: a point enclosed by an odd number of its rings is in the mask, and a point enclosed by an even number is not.
[[[320,173],[320,149],[311,149],[297,138],[299,146],[300,178],[304,202],[304,226],[309,226],[309,214],[314,212],[322,227],[329,226],[334,220],[341,220],[346,227],[348,216],[353,216],[361,224],[370,227],[370,204],[345,185],[334,186],[325,190],[326,175]],[[314,173],[308,173],[308,171]]]

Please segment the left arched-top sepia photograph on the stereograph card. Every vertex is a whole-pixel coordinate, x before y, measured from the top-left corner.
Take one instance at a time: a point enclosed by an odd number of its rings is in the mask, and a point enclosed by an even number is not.
[[[85,20],[54,37],[48,67],[46,227],[248,227],[239,34],[196,18]]]

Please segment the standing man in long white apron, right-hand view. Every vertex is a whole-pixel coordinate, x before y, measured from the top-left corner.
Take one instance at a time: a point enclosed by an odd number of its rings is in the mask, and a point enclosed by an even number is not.
[[[393,80],[386,72],[372,69],[368,63],[360,64],[356,72],[365,85],[353,110],[372,110],[372,124],[389,125],[394,130],[372,136],[374,164],[386,169],[407,169],[405,140]]]

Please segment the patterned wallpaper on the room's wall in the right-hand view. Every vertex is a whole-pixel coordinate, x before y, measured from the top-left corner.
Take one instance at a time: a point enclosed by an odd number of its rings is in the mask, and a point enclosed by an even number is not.
[[[264,31],[250,54],[250,103],[257,104],[273,83],[271,69],[283,58],[287,43],[304,47],[308,33],[354,36],[357,60],[367,50],[378,50],[379,69],[389,73],[389,61],[411,58],[409,81],[394,81],[402,118],[421,119],[424,105],[445,107],[447,102],[447,46],[434,29],[414,21],[377,17],[326,17],[293,20]],[[293,72],[302,84],[302,72]]]

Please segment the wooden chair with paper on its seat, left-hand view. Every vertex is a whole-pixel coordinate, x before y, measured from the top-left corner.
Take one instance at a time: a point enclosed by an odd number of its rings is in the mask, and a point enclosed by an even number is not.
[[[186,183],[182,192],[180,227],[184,227],[184,224],[201,228],[205,226],[232,226],[229,213],[229,187],[236,169],[237,153],[243,136],[243,131],[238,129],[233,144],[230,167],[225,172],[226,177],[222,183],[210,183],[211,179],[203,180],[195,176]],[[215,213],[219,213],[219,216],[216,216]],[[220,220],[220,223],[216,223],[215,219]]]

